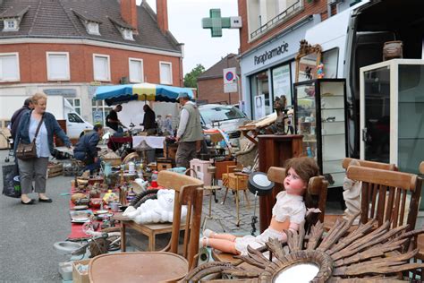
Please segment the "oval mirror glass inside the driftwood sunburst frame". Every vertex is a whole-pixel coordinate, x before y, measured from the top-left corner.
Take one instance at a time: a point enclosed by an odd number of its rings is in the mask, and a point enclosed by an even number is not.
[[[314,279],[319,272],[319,267],[314,263],[299,263],[281,270],[275,275],[274,283],[297,282],[308,283]]]

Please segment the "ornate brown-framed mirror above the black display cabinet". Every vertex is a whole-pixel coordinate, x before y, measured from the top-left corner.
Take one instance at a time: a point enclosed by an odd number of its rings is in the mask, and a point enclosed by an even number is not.
[[[301,40],[301,47],[296,56],[295,81],[309,81],[317,79],[317,66],[321,63],[321,47],[311,46],[308,41]]]

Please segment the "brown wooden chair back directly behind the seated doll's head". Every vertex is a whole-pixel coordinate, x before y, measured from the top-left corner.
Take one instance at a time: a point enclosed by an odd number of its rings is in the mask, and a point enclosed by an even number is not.
[[[267,177],[269,181],[282,184],[284,187],[285,168],[269,167]],[[318,209],[321,210],[318,215],[318,220],[321,222],[324,222],[324,215],[326,214],[327,187],[328,182],[324,176],[314,176],[310,178],[308,192],[318,198]]]

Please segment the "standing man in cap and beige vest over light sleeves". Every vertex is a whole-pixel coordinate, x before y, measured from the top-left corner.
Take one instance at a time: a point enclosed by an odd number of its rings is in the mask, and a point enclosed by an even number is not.
[[[203,130],[200,124],[200,113],[197,105],[190,101],[187,92],[180,92],[177,98],[182,106],[180,124],[176,141],[179,142],[175,155],[177,167],[190,167],[190,160],[196,157],[203,141]]]

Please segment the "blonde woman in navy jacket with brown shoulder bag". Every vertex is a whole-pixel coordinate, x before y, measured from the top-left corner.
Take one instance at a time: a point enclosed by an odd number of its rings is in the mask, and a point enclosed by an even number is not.
[[[53,135],[58,136],[64,144],[72,147],[72,143],[57,123],[53,114],[46,112],[47,95],[41,92],[31,98],[34,109],[22,115],[16,133],[14,150],[20,142],[29,144],[35,138],[37,157],[34,159],[18,159],[21,178],[21,203],[34,204],[28,196],[32,191],[32,182],[35,182],[35,193],[38,193],[38,202],[52,202],[46,195],[47,165],[50,154],[53,153]],[[39,126],[38,126],[39,125]]]

